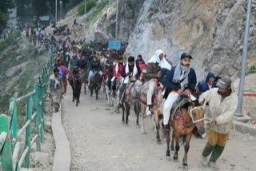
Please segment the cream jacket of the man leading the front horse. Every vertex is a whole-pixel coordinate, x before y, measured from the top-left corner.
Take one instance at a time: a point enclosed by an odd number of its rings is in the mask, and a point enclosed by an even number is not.
[[[221,101],[222,96],[218,94],[218,88],[210,89],[199,97],[199,101],[205,99],[203,109],[206,109],[205,118],[216,120],[217,124],[208,126],[217,133],[229,133],[234,122],[234,113],[238,106],[238,95],[231,93]]]

